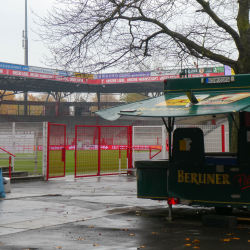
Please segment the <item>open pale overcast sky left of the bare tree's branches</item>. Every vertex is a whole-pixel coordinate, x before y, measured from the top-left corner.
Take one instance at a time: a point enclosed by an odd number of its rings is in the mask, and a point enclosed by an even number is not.
[[[49,55],[39,37],[32,31],[37,26],[36,16],[45,16],[53,4],[53,0],[28,0],[28,39],[29,65],[46,67],[43,63],[44,54]],[[24,49],[22,48],[22,31],[25,28],[25,0],[0,0],[0,62],[24,64]]]

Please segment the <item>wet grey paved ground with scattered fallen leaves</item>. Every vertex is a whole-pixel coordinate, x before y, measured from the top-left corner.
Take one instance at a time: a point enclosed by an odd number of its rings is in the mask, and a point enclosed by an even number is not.
[[[68,176],[11,190],[0,201],[0,249],[250,248],[250,214],[234,212],[247,218],[235,229],[206,228],[201,217],[213,209],[177,206],[168,222],[166,201],[136,198],[135,177]]]

